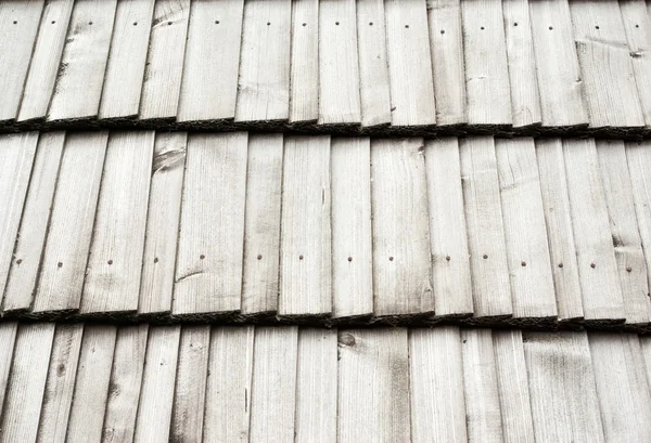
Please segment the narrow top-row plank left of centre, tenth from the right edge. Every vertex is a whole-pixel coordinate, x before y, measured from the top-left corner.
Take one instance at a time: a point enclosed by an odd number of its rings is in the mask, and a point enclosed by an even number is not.
[[[290,122],[319,118],[319,1],[292,1]]]

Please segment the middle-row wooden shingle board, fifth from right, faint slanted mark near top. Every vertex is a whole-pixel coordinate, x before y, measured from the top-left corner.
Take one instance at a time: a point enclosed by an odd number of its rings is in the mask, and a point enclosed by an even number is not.
[[[495,152],[513,318],[556,320],[556,292],[534,140],[498,139]]]

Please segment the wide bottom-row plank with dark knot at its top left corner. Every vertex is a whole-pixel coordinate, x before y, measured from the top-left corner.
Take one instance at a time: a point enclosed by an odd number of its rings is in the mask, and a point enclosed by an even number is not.
[[[339,333],[339,442],[410,441],[408,348],[405,328]]]

